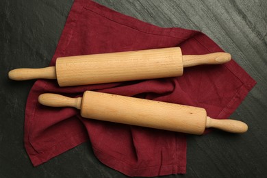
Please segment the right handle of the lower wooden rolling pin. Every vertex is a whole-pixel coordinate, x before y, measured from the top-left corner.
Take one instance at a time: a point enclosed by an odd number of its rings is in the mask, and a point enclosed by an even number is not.
[[[210,127],[231,133],[244,133],[248,130],[248,125],[239,120],[214,119],[207,116],[206,128]]]

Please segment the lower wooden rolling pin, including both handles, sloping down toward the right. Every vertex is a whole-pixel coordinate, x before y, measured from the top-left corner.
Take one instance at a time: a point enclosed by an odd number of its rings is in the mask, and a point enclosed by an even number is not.
[[[200,135],[209,127],[231,133],[244,133],[248,129],[245,123],[238,120],[209,118],[206,110],[201,107],[102,92],[86,91],[82,98],[47,93],[41,94],[38,101],[42,105],[52,107],[76,107],[81,110],[81,116],[84,118],[183,133]]]

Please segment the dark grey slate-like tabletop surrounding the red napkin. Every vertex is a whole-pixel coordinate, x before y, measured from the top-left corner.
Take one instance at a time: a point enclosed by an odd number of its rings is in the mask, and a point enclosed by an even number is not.
[[[187,174],[169,177],[266,177],[267,1],[97,2],[160,27],[203,31],[257,81],[232,115],[249,131],[188,136]],[[0,1],[0,177],[125,177],[101,164],[90,142],[36,168],[23,147],[25,103],[34,81],[11,81],[8,71],[49,64],[72,3]]]

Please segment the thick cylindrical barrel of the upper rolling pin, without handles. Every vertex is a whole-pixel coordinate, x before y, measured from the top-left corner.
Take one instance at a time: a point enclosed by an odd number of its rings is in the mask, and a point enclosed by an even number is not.
[[[78,86],[183,74],[179,47],[58,58],[58,84]]]

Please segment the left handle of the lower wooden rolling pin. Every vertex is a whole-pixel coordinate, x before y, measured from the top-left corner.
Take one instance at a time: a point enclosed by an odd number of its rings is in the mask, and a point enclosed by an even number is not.
[[[51,107],[76,107],[81,109],[81,97],[70,98],[60,94],[44,93],[38,97],[39,103]]]

